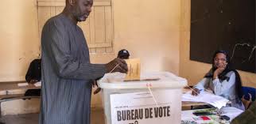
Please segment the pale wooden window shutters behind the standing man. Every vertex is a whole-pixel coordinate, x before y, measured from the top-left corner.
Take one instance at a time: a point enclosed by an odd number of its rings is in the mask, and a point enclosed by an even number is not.
[[[111,53],[113,51],[113,17],[111,0],[94,0],[90,17],[79,23],[90,53]],[[41,30],[45,22],[62,12],[65,0],[37,0],[38,28],[41,39]]]

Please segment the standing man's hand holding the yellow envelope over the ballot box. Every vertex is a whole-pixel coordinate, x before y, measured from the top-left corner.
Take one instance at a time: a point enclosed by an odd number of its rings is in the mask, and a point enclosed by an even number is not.
[[[126,61],[120,59],[120,58],[114,58],[111,62],[108,62],[106,64],[107,73],[114,73],[114,72],[120,72],[120,73],[127,73],[128,67],[126,64]]]

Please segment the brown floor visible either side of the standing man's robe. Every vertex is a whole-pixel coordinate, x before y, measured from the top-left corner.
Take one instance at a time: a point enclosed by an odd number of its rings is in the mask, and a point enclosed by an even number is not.
[[[2,121],[6,124],[37,124],[38,114],[6,115],[2,116]],[[102,109],[91,110],[91,124],[104,124],[104,115]]]

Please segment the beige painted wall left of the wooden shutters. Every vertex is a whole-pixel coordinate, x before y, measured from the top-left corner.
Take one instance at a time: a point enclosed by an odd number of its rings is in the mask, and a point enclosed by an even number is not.
[[[0,13],[0,81],[25,80],[29,62],[39,54],[36,2],[2,1]]]

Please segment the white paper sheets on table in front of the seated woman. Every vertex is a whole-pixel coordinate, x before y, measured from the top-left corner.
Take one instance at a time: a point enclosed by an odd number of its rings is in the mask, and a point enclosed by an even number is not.
[[[209,103],[220,109],[221,107],[225,107],[229,100],[222,96],[216,96],[211,92],[201,92],[198,96],[192,96],[191,92],[187,92],[182,95],[182,101]]]

